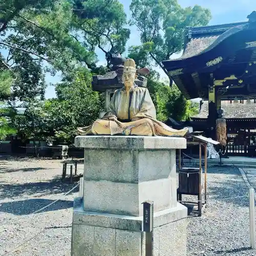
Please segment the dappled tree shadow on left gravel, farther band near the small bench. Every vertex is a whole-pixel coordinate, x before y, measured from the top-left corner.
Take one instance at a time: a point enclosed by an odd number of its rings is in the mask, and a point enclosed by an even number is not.
[[[19,196],[45,196],[66,193],[72,189],[79,178],[74,177],[73,183],[70,183],[67,179],[62,181],[59,176],[53,180],[42,181],[42,182],[29,182],[23,184],[9,184],[2,183],[0,184],[0,199],[13,198]],[[72,194],[79,191],[79,187],[76,187],[72,190]]]

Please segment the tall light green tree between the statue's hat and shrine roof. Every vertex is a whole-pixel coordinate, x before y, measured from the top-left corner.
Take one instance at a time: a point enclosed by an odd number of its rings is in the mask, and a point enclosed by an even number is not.
[[[182,51],[185,28],[205,26],[211,18],[208,9],[182,8],[177,0],[132,0],[130,10],[131,24],[140,31],[142,43],[136,51],[154,60],[166,75],[161,61]]]

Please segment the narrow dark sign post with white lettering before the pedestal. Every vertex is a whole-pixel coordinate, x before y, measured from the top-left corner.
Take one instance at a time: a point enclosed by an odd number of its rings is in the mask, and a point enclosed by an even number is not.
[[[152,201],[145,201],[143,204],[143,232],[146,235],[145,256],[153,256],[153,215],[154,203]]]

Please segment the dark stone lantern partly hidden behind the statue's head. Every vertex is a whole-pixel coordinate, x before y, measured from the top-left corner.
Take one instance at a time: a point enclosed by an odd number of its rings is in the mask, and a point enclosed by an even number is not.
[[[124,86],[122,83],[123,65],[125,58],[120,54],[116,57],[112,57],[110,60],[111,71],[104,75],[93,76],[92,88],[93,91],[103,92],[105,94],[105,111],[108,110],[111,98],[115,90],[120,89]],[[146,87],[147,78],[138,76],[135,83],[140,87]],[[105,112],[99,113],[101,118]]]

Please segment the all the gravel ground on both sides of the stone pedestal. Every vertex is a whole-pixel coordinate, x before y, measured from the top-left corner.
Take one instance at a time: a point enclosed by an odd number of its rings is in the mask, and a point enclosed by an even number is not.
[[[60,181],[61,166],[60,160],[0,159],[1,256],[70,255],[78,188],[63,196],[76,183]],[[243,197],[248,189],[239,170],[210,167],[207,183],[206,212],[201,218],[188,218],[187,256],[256,255],[248,249],[249,198]],[[31,215],[56,199],[61,201]]]

